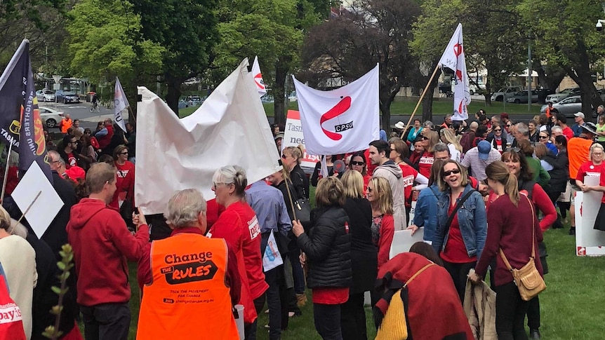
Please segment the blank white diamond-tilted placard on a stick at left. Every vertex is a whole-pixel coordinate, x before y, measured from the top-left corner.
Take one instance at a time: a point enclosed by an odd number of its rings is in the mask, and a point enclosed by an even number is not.
[[[41,192],[40,196],[32,205],[32,208],[29,208],[25,218],[29,226],[32,226],[36,236],[41,238],[59,210],[61,210],[63,201],[51,182],[46,179],[46,175],[44,175],[38,163],[34,162],[29,166],[11,196],[21,212],[25,212],[39,192]]]

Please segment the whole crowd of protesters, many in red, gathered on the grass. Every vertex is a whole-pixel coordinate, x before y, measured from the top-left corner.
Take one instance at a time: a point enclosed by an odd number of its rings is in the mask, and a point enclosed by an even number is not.
[[[215,199],[185,189],[173,193],[163,216],[145,216],[133,201],[134,126],[123,133],[107,120],[93,132],[66,116],[62,140],[47,140],[53,186],[65,204],[38,239],[27,220],[15,221],[22,212],[7,190],[1,268],[27,339],[44,339],[53,324],[51,287],[65,243],[75,266],[62,297],[61,339],[82,339],[78,321],[86,339],[128,338],[127,260],[138,263],[142,293],[137,339],[256,339],[258,332],[281,339],[309,301],[323,339],[367,339],[366,292],[379,333],[401,331],[393,315],[405,313],[416,339],[472,339],[463,311],[467,278],[479,283],[488,271],[498,339],[528,339],[525,318],[531,339],[540,339],[539,299],[521,299],[506,264],[521,268],[535,249],[543,276],[543,232],[562,228],[569,210],[575,233],[576,191],[605,191],[597,140],[605,123],[575,117],[571,127],[554,113],[516,123],[484,111],[468,124],[416,119],[365,150],[324,155],[327,173],[318,162],[308,175],[303,146],[281,147],[275,126],[281,170],[248,183],[244,168],[222,166],[212,178]],[[17,164],[11,155],[7,166]],[[601,184],[586,185],[594,174]],[[305,214],[310,186],[317,186],[315,207]],[[605,230],[601,210],[595,229]],[[392,257],[394,235],[420,229],[423,242]],[[258,325],[265,306],[268,325]],[[204,334],[193,315],[204,315]],[[431,318],[447,321],[430,325]]]

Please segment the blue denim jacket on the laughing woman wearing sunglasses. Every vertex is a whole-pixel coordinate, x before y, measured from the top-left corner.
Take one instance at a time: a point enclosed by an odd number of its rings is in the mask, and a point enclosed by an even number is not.
[[[466,193],[472,189],[470,184],[464,189],[460,196],[463,198]],[[446,233],[448,220],[448,208],[450,205],[451,191],[448,190],[439,198],[437,202],[437,231],[435,232],[432,246],[437,253],[444,250],[447,243],[449,230]],[[481,193],[474,191],[471,193],[466,202],[458,209],[458,224],[460,224],[460,233],[462,233],[463,241],[469,257],[481,257],[485,239],[487,236],[487,216],[485,212],[485,203]]]

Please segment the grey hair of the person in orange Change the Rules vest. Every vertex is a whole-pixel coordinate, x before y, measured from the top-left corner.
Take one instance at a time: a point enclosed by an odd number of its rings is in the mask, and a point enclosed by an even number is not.
[[[206,212],[206,200],[197,189],[177,191],[168,200],[164,214],[166,223],[173,228],[185,228],[197,224],[200,212]]]

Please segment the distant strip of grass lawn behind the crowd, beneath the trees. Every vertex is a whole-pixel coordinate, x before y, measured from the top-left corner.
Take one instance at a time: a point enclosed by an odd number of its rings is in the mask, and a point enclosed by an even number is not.
[[[395,102],[391,104],[391,114],[392,115],[410,115],[412,111],[414,111],[414,107],[416,106],[416,102],[418,101],[418,97],[399,97]],[[265,112],[268,117],[272,117],[274,115],[273,104],[263,104],[265,107]],[[474,112],[479,111],[479,109],[484,109],[488,116],[492,116],[493,114],[500,114],[500,112],[508,112],[509,114],[540,114],[541,104],[531,104],[531,111],[527,110],[527,104],[510,104],[503,102],[492,102],[491,107],[487,107],[485,102],[474,101],[471,102],[468,111],[469,115],[473,116]],[[179,110],[179,115],[182,117],[189,116],[195,111],[197,107],[187,107],[185,109]],[[288,109],[298,110],[298,103],[291,102],[288,105]],[[453,109],[453,99],[451,98],[435,98],[433,101],[433,114],[434,115],[445,115],[451,113]],[[420,104],[418,107],[418,111],[416,111],[417,115],[422,115],[423,106]]]

